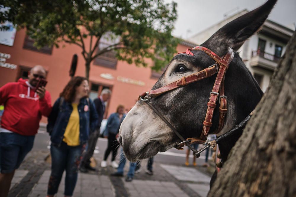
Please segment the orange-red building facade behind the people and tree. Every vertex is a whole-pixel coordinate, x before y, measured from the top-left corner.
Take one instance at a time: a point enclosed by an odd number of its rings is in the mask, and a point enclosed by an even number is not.
[[[86,40],[86,43],[89,40]],[[65,47],[62,47],[65,45]],[[15,33],[12,46],[0,44],[0,87],[8,82],[15,82],[20,77],[28,76],[28,71],[35,65],[43,66],[47,71],[46,89],[52,96],[52,103],[70,80],[69,70],[74,54],[78,55],[76,76],[85,76],[85,61],[82,49],[74,44],[60,43],[59,48],[43,47],[37,49],[33,40],[28,38],[25,30]],[[177,46],[178,52],[192,48],[192,43],[182,42]],[[150,62],[150,66],[153,63]],[[108,104],[108,115],[115,112],[122,104],[130,109],[139,94],[150,90],[159,78],[160,73],[149,67],[137,67],[125,61],[117,61],[112,54],[99,56],[91,63],[89,83],[90,97],[98,97],[103,88],[110,88],[112,95]],[[106,114],[107,115],[107,114]],[[42,119],[46,122],[46,118]]]

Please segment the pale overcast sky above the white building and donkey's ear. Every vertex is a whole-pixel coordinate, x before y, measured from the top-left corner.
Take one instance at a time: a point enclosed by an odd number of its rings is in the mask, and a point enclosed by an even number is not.
[[[243,9],[251,11],[266,0],[173,0],[178,19],[173,35],[186,39]],[[165,0],[169,3],[172,0]],[[296,23],[296,0],[278,0],[268,19],[290,28]]]

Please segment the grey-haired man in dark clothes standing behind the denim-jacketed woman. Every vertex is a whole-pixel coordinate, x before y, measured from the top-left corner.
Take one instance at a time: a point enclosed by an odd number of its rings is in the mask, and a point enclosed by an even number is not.
[[[96,107],[96,112],[98,113],[98,122],[96,125],[96,130],[89,136],[89,141],[87,144],[87,150],[83,155],[80,165],[81,172],[88,172],[88,170],[95,171],[96,169],[90,166],[90,158],[94,154],[94,149],[96,148],[96,142],[98,141],[100,135],[100,127],[103,120],[103,116],[105,113],[105,102],[110,99],[111,90],[110,89],[103,89],[99,98],[94,100],[94,105]]]

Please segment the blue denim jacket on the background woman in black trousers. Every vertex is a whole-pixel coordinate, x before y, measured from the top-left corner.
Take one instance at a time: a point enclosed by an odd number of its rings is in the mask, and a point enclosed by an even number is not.
[[[119,118],[118,113],[112,113],[108,118],[103,135],[108,136],[109,133],[116,135],[119,131],[120,124],[125,117],[126,117],[125,114],[123,114],[122,118]]]

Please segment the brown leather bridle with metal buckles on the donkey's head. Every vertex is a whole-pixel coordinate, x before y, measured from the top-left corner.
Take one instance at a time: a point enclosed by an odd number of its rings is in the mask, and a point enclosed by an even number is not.
[[[216,63],[206,69],[203,69],[202,71],[199,71],[197,73],[191,74],[186,77],[182,77],[181,79],[170,83],[168,85],[165,85],[163,87],[160,87],[158,89],[150,90],[149,92],[143,92],[140,95],[140,99],[144,101],[149,107],[170,127],[170,129],[173,130],[173,132],[181,139],[181,142],[178,143],[175,148],[182,149],[184,145],[188,146],[189,149],[191,149],[194,152],[195,157],[199,157],[201,151],[197,151],[194,148],[190,146],[190,144],[197,143],[197,144],[203,144],[206,143],[206,147],[213,148],[209,141],[207,141],[207,135],[210,131],[210,128],[212,126],[212,119],[213,119],[213,113],[216,107],[216,102],[219,99],[219,124],[218,128],[213,133],[219,133],[223,126],[224,126],[224,119],[225,115],[227,113],[227,97],[224,95],[224,79],[225,79],[225,73],[226,70],[229,68],[229,64],[232,61],[234,57],[234,52],[231,48],[228,49],[228,52],[221,58],[218,55],[216,55],[213,51],[211,51],[208,48],[205,48],[203,46],[196,46],[192,49],[187,49],[186,52],[183,52],[188,55],[194,56],[194,54],[191,51],[203,51],[208,56],[210,56],[213,60],[216,61]],[[219,64],[219,69],[218,69]],[[205,120],[203,121],[203,128],[202,133],[199,138],[187,138],[186,140],[180,135],[180,133],[169,123],[169,121],[149,102],[151,98],[155,98],[165,92],[168,92],[170,90],[176,89],[178,87],[185,86],[187,84],[199,81],[201,79],[205,79],[208,77],[213,76],[214,74],[217,74],[215,84],[213,86],[212,92],[210,92],[210,99],[209,102],[207,102],[207,113],[205,116]],[[220,97],[219,97],[220,95]]]

